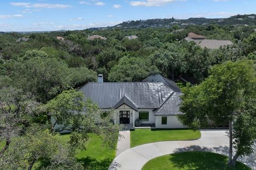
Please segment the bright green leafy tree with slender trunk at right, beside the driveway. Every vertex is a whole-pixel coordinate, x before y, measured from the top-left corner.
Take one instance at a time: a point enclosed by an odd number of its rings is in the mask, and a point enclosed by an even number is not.
[[[256,140],[255,103],[252,102],[256,98],[255,62],[229,61],[213,66],[210,74],[198,86],[184,89],[180,106],[184,115],[179,118],[194,129],[204,127],[208,119],[217,123],[228,120],[228,163],[235,165],[239,156],[252,153]]]

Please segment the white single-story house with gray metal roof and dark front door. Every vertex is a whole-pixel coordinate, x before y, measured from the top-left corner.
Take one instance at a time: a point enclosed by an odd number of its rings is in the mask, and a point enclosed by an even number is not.
[[[181,91],[175,82],[154,74],[142,82],[98,82],[85,84],[80,91],[103,112],[115,109],[115,123],[153,124],[155,128],[184,128],[178,120]]]

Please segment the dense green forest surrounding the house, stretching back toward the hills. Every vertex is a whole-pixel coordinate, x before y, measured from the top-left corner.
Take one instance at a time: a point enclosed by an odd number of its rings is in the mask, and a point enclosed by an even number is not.
[[[234,45],[203,49],[183,40],[189,32],[209,39],[231,40]],[[92,35],[107,39],[88,40]],[[125,38],[130,35],[138,39]],[[29,40],[17,42],[20,37]],[[84,101],[82,94],[74,90],[97,81],[97,74],[103,74],[104,81],[124,82],[141,81],[150,74],[161,73],[176,82],[189,77],[200,84],[209,77],[214,65],[243,60],[256,60],[255,26],[188,25],[179,30],[174,25],[0,34],[0,141],[6,142],[0,150],[0,165],[31,169],[40,159],[45,162],[45,169],[65,169],[70,165],[81,169],[82,165],[75,161],[74,147],[81,147],[89,132],[100,135],[106,145],[113,147],[112,140],[117,135],[114,132],[120,127],[109,123],[109,116],[95,116],[101,112],[97,105]],[[87,116],[70,116],[70,110],[82,113],[85,106]],[[60,145],[58,135],[53,135],[50,113],[73,125],[69,147]],[[92,123],[95,118],[100,123]],[[20,135],[24,138],[15,138]],[[39,139],[50,144],[38,143]],[[13,144],[9,148],[12,142],[23,145]]]

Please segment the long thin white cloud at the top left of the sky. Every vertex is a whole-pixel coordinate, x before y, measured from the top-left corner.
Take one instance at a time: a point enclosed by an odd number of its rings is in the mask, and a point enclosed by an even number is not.
[[[21,7],[34,7],[34,8],[68,8],[72,7],[70,5],[63,5],[63,4],[45,4],[45,3],[10,3],[13,6],[21,6]]]

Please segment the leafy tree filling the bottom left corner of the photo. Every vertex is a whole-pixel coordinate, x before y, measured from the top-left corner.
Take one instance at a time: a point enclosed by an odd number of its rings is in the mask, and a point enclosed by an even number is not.
[[[82,169],[74,152],[59,134],[31,127],[22,138],[14,139],[9,151],[0,159],[0,169]]]

